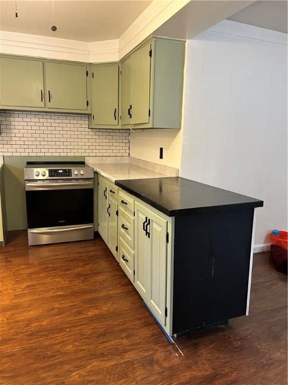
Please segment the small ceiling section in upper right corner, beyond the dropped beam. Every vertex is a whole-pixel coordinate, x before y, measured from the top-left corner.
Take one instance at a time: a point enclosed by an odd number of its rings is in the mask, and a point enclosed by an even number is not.
[[[259,0],[227,19],[286,34],[287,2]]]

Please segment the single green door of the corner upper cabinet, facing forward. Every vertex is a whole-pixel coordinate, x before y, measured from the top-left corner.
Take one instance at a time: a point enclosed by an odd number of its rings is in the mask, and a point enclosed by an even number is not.
[[[92,123],[118,125],[119,66],[92,68]]]

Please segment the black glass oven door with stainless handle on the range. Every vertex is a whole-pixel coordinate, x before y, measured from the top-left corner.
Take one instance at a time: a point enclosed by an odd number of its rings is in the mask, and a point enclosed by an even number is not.
[[[25,181],[28,229],[93,224],[93,179]]]

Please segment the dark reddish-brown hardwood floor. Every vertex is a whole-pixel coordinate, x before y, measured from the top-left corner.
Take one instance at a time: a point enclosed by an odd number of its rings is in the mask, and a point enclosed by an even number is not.
[[[98,237],[0,249],[1,385],[284,385],[286,276],[254,255],[250,315],[167,341]],[[197,293],[195,293],[197,295]]]

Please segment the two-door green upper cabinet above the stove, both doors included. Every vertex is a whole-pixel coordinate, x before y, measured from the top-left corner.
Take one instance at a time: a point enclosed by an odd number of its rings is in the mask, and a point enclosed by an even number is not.
[[[85,63],[0,55],[0,108],[90,113],[88,68]]]

